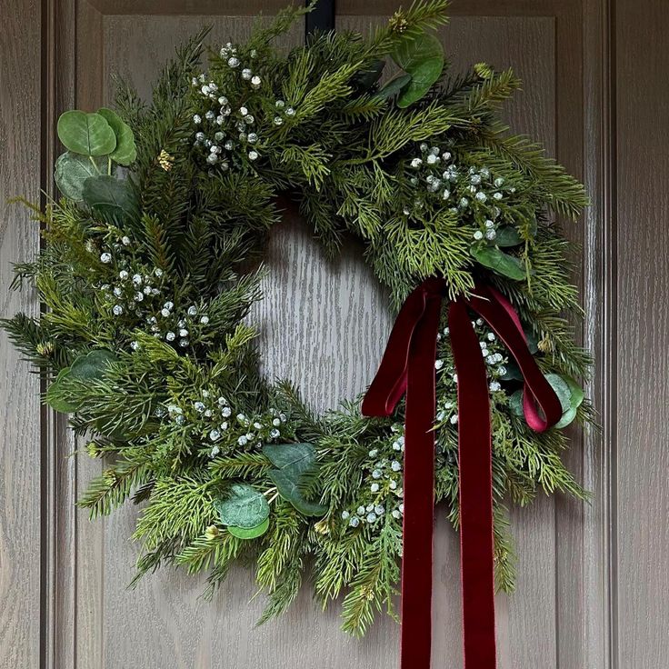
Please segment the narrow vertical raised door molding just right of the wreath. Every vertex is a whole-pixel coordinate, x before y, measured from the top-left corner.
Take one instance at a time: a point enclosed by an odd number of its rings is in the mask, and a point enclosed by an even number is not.
[[[618,669],[616,634],[616,535],[614,475],[617,451],[617,233],[615,211],[614,11],[600,0],[584,3],[584,184],[596,194],[585,212],[584,344],[593,352],[586,385],[601,416],[601,431],[588,430],[583,482],[594,491],[583,508],[581,539],[584,611],[583,665]],[[574,542],[578,544],[579,542]]]

